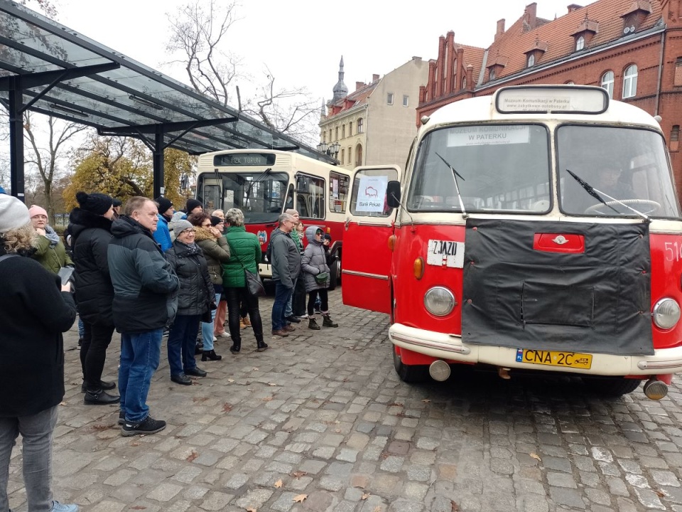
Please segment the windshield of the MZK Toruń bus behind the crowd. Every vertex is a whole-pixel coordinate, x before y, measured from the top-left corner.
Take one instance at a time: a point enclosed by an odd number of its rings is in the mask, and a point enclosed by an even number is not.
[[[207,210],[239,208],[247,224],[271,223],[283,211],[288,181],[286,173],[270,169],[202,173],[197,180],[197,199]]]

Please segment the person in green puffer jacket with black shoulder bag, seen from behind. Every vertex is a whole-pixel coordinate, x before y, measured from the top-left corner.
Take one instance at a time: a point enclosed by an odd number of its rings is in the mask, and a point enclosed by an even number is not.
[[[242,331],[239,329],[239,304],[245,302],[251,318],[251,327],[256,336],[256,349],[262,352],[268,348],[263,340],[263,322],[258,309],[258,297],[251,295],[247,289],[244,269],[250,272],[258,272],[258,264],[261,262],[261,242],[256,235],[247,233],[244,228],[244,213],[238,208],[230,208],[225,212],[225,224],[227,232],[225,238],[229,245],[229,261],[222,265],[222,286],[227,298],[227,325],[229,334],[232,336],[232,347],[229,349],[233,354],[242,349]]]

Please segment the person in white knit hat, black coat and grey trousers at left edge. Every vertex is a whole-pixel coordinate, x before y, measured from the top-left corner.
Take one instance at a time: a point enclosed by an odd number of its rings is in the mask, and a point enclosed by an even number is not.
[[[36,237],[26,205],[0,195],[0,511],[9,511],[9,461],[21,434],[28,510],[77,512],[53,500],[50,476],[64,398],[62,333],[76,319],[76,304],[70,284],[27,257]]]

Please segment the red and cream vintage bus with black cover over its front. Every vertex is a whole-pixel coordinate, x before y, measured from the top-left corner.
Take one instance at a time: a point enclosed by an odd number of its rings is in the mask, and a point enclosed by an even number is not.
[[[505,87],[354,171],[345,304],[391,315],[402,380],[458,365],[663,398],[682,370],[682,217],[654,117],[600,87]]]

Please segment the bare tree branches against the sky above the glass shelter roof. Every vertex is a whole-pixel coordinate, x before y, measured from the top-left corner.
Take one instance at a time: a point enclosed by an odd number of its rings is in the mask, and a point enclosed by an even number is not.
[[[246,97],[242,108],[239,88],[233,87],[237,78],[247,78],[241,71],[242,61],[220,50],[230,26],[239,19],[236,11],[234,3],[220,6],[211,0],[203,6],[201,0],[191,0],[173,16],[168,15],[171,39],[166,49],[183,55],[171,63],[183,63],[190,85],[197,92],[227,106],[234,88],[240,112],[246,112],[271,129],[301,142],[315,144],[319,131],[318,100],[313,100],[305,87],[276,87],[275,77],[267,66],[264,82],[256,86],[253,95]]]

